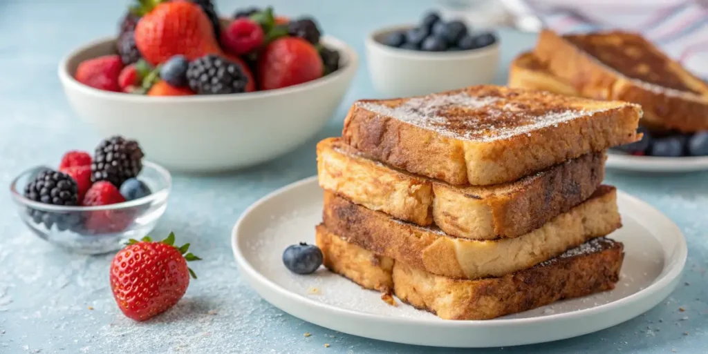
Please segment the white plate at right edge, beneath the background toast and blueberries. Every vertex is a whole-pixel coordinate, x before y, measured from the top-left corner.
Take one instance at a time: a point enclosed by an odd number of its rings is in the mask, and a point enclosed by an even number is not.
[[[607,153],[607,168],[638,172],[697,172],[708,170],[708,156],[661,158]]]

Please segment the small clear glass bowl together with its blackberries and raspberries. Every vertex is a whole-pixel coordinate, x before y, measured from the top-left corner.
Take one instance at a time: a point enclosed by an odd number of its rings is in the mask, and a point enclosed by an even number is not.
[[[172,178],[143,160],[136,141],[113,136],[93,156],[69,151],[58,169],[32,167],[10,184],[23,222],[64,249],[103,254],[147,235],[167,207]]]

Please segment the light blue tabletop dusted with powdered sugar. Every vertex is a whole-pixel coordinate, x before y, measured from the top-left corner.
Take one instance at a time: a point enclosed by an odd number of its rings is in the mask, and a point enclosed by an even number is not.
[[[6,194],[0,199],[0,353],[458,352],[373,341],[309,324],[261,300],[239,277],[229,244],[239,214],[269,191],[314,175],[316,141],[338,135],[353,100],[377,97],[363,60],[365,34],[415,20],[433,5],[270,3],[284,14],[312,13],[326,33],[349,42],[362,59],[326,129],[292,153],[258,167],[228,175],[175,176],[169,208],[153,234],[174,230],[205,260],[193,265],[200,278],[176,308],[141,324],[123,317],[115,306],[108,285],[110,255],[79,256],[50,246],[21,224]],[[222,13],[229,14],[247,4],[217,1]],[[124,1],[0,0],[0,184],[8,186],[30,165],[57,164],[63,151],[90,151],[96,145],[100,137],[64,98],[57,63],[73,47],[112,35],[123,11]],[[510,58],[534,44],[532,35],[510,31],[502,31],[501,40],[498,83],[506,81]],[[678,290],[646,314],[605,331],[469,353],[708,353],[708,174],[610,173],[607,182],[651,203],[683,230],[689,253]],[[312,336],[304,337],[305,332]]]

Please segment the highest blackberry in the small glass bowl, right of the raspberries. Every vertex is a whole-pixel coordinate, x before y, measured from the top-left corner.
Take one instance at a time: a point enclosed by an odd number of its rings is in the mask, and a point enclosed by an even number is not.
[[[144,154],[135,140],[112,136],[96,147],[91,164],[91,182],[108,181],[116,188],[142,170]]]

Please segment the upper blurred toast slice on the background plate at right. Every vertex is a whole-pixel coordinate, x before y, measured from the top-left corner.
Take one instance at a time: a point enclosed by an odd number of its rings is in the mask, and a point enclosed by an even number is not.
[[[641,35],[561,36],[544,30],[534,54],[584,97],[641,105],[646,126],[685,133],[708,129],[708,83]]]

